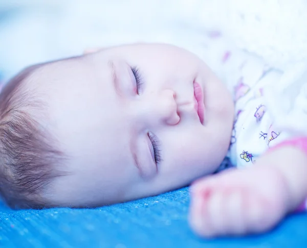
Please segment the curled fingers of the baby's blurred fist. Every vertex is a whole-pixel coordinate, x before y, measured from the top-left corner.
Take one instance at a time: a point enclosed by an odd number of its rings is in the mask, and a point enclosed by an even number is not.
[[[250,214],[256,210],[249,208],[250,201],[253,202],[253,197],[244,188],[204,187],[204,184],[201,187],[199,184],[192,191],[190,225],[204,237],[243,235],[254,222]]]

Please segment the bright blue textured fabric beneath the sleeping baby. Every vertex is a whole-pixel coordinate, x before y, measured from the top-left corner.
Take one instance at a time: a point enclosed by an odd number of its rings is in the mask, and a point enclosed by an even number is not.
[[[307,247],[307,214],[272,232],[214,240],[187,225],[188,189],[98,209],[14,211],[0,206],[0,247]]]

